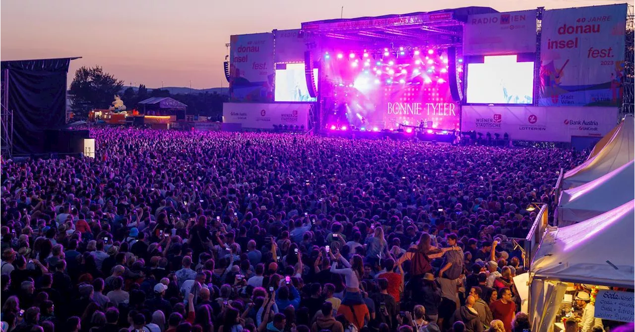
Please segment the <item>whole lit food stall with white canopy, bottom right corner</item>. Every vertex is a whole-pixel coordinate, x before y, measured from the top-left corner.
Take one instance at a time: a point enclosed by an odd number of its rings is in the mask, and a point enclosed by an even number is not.
[[[559,331],[594,309],[596,321],[635,321],[635,200],[567,227],[549,227],[530,265],[531,331]],[[585,310],[575,310],[584,307]],[[596,324],[596,322],[592,323]]]

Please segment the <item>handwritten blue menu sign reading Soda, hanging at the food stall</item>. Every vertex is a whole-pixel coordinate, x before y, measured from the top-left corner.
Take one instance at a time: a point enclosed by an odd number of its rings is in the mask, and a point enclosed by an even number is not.
[[[635,293],[598,291],[595,317],[612,321],[635,322]]]

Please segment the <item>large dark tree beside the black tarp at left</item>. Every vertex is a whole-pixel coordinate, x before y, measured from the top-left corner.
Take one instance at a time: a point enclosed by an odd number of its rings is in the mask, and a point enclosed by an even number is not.
[[[86,116],[92,109],[107,109],[121,88],[123,81],[104,72],[102,67],[81,67],[70,83],[73,112]]]

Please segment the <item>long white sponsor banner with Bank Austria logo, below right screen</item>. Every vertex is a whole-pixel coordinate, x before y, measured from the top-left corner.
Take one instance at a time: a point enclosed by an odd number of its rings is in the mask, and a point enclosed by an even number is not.
[[[602,137],[617,124],[617,107],[463,106],[462,131],[509,134],[511,140],[571,142]]]

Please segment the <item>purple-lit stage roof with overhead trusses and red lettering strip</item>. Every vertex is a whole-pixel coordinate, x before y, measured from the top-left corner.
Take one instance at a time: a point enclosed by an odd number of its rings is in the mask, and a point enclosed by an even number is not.
[[[385,15],[302,23],[307,34],[361,42],[405,41],[425,44],[461,43],[468,15],[498,13],[489,7],[464,7],[427,13]]]

